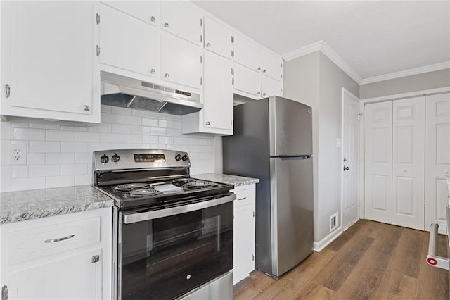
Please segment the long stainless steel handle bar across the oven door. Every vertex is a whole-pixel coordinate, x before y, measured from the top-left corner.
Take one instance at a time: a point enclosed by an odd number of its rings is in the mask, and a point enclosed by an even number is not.
[[[211,199],[203,202],[197,202],[193,204],[187,204],[183,206],[174,206],[170,208],[160,209],[158,211],[144,211],[142,213],[129,212],[121,213],[121,221],[125,224],[143,222],[146,220],[153,220],[158,218],[164,218],[169,215],[179,215],[180,213],[188,213],[190,211],[198,211],[200,209],[209,208],[212,206],[217,206],[227,202],[234,201],[236,199],[236,194],[229,196],[224,196],[217,199]]]

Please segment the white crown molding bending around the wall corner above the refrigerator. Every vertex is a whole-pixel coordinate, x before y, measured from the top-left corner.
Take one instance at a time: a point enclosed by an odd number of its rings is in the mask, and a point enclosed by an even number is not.
[[[350,66],[347,65],[347,63],[340,56],[338,56],[338,54],[333,51],[330,46],[328,46],[328,44],[326,44],[326,42],[315,42],[314,44],[310,44],[295,51],[291,51],[283,55],[282,57],[285,61],[291,61],[295,58],[299,58],[316,51],[321,51],[326,57],[330,59],[330,61],[333,61],[335,65],[338,65],[338,67],[342,71],[349,75],[349,77],[352,77],[352,80],[354,80],[358,85],[360,84],[361,77],[359,77],[359,75],[352,68],[350,68]]]

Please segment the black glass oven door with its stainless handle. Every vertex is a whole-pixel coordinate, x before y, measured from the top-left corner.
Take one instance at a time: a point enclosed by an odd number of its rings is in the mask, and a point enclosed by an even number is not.
[[[118,299],[174,299],[231,270],[234,199],[120,213]]]

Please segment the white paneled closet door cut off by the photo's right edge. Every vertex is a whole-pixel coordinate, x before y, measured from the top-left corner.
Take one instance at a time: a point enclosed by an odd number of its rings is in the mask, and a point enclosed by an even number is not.
[[[446,224],[447,186],[450,175],[450,94],[426,96],[425,230],[437,220]],[[443,226],[439,230],[444,229]]]

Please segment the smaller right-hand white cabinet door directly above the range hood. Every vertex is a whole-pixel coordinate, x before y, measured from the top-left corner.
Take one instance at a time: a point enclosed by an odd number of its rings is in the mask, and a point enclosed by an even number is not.
[[[173,35],[161,35],[162,80],[200,89],[202,52],[199,46]]]

